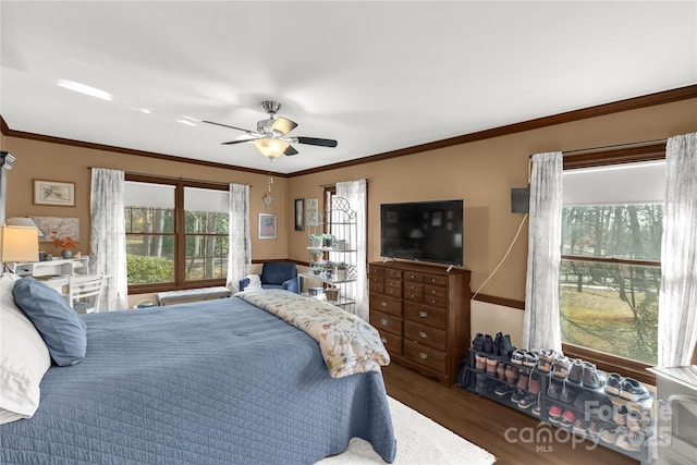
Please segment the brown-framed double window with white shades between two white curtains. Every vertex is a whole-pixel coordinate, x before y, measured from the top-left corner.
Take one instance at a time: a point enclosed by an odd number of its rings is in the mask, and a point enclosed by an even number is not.
[[[224,284],[229,194],[220,185],[127,175],[129,286],[137,292]]]

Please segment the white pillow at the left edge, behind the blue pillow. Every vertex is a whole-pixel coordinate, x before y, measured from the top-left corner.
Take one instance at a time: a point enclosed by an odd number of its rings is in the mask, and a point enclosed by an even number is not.
[[[14,303],[16,274],[0,277],[0,425],[30,418],[39,406],[39,383],[51,366],[48,347]]]

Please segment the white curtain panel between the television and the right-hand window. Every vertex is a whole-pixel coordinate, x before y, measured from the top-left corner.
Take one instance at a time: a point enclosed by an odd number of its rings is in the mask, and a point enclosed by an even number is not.
[[[533,156],[523,346],[561,351],[559,267],[562,229],[561,151]]]

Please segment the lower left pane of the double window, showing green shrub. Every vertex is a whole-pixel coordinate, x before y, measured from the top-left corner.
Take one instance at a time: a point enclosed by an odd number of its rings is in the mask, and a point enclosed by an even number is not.
[[[126,235],[129,285],[174,282],[174,237]]]

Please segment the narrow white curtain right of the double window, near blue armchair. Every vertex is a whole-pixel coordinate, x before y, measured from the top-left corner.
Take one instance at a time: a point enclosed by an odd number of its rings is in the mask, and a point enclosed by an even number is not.
[[[248,274],[252,265],[249,186],[245,184],[230,184],[229,240],[225,285],[234,293],[240,291],[240,280]]]

